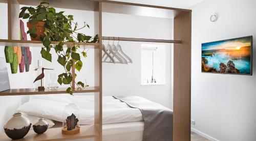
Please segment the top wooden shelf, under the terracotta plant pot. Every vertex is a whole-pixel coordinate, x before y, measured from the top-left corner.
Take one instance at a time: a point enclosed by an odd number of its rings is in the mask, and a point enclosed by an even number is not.
[[[52,41],[51,44],[58,44],[57,41]],[[99,43],[90,43],[90,42],[64,42],[64,47],[67,47],[67,45],[80,45],[81,48],[87,48],[87,49],[98,49]],[[30,47],[39,47],[41,48],[42,42],[41,41],[23,41],[23,40],[6,40],[6,39],[0,39],[0,45],[2,46],[30,46]]]

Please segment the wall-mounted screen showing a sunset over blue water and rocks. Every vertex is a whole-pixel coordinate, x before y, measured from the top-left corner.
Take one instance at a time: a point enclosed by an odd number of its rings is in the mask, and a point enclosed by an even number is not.
[[[202,72],[251,74],[252,36],[202,43]]]

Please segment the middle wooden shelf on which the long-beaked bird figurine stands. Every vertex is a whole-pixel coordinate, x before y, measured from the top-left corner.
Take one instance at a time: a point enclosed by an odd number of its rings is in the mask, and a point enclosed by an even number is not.
[[[0,92],[0,96],[19,96],[19,95],[48,95],[48,94],[61,94],[67,93],[67,88],[58,88],[57,90],[45,89],[45,91],[38,91],[33,88],[22,88],[22,89],[9,89]],[[86,92],[99,92],[98,87],[87,87],[83,90],[74,90],[73,93],[86,93]],[[0,139],[1,140],[1,139]]]

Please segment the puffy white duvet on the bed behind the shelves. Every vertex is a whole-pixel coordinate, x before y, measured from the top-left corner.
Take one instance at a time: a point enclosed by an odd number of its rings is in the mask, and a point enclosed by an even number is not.
[[[63,111],[64,107],[69,103],[75,103],[80,108],[81,125],[94,124],[94,95],[33,96],[29,102],[21,105],[18,111],[62,122],[63,112],[69,112]],[[113,97],[103,97],[102,104],[103,124],[143,121],[139,109],[131,108]]]

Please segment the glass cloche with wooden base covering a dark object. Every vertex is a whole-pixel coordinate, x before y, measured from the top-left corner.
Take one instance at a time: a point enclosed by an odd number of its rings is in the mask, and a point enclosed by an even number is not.
[[[74,104],[70,103],[65,106],[63,110],[62,134],[77,134],[80,131],[79,119],[80,109]]]

